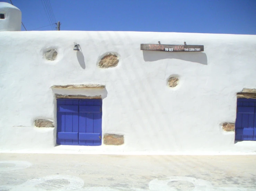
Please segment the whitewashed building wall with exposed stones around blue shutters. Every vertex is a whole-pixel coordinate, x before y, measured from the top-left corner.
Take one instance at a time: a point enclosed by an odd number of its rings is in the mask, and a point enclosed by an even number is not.
[[[140,50],[141,43],[204,45],[204,52]],[[81,52],[73,50],[73,42]],[[236,93],[256,88],[256,36],[160,32],[0,32],[1,152],[190,154],[241,153],[256,141],[234,144]],[[57,59],[43,57],[58,51]],[[119,57],[115,68],[98,68],[104,54]],[[84,62],[83,62],[84,59]],[[171,75],[180,78],[169,88]],[[120,146],[56,146],[56,84],[105,84],[103,134],[122,134]],[[55,91],[55,92],[54,92]],[[63,90],[64,91],[64,90]],[[80,90],[67,94],[98,94]],[[70,90],[71,91],[71,90]],[[75,90],[72,90],[75,91]],[[22,127],[19,127],[22,126]]]

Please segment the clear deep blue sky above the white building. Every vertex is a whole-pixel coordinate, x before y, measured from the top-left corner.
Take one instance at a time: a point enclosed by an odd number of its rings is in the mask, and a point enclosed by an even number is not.
[[[61,30],[256,34],[256,0],[12,0],[27,30],[50,24],[42,2]]]

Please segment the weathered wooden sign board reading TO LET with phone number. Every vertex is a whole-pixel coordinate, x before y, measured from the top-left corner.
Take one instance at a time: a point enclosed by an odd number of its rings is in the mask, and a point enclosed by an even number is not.
[[[168,45],[168,44],[140,44],[141,50],[154,50],[164,52],[202,52],[203,45]]]

